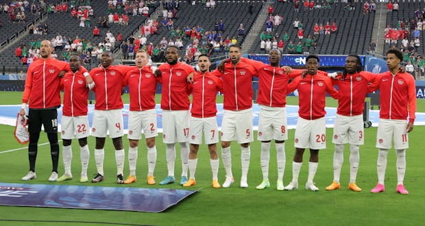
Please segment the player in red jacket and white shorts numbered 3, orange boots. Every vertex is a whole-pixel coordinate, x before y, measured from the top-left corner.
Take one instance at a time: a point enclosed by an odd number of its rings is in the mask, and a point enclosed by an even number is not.
[[[335,144],[333,158],[334,180],[326,190],[339,189],[339,176],[343,164],[344,145],[350,144],[350,184],[348,188],[360,192],[356,185],[356,176],[359,169],[359,146],[364,144],[363,110],[367,95],[367,84],[373,82],[377,76],[362,71],[361,59],[358,55],[348,55],[345,60],[345,71],[341,79],[332,79],[338,86],[339,99],[337,116],[335,116],[332,142]]]

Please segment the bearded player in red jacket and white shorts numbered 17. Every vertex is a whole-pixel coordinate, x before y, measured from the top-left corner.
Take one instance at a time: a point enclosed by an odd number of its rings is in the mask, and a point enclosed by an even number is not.
[[[187,182],[187,168],[189,164],[189,94],[191,84],[186,77],[195,73],[189,64],[179,62],[180,54],[178,47],[169,46],[165,53],[167,63],[162,64],[156,70],[160,73],[162,83],[162,140],[167,146],[167,168],[168,176],[160,181],[160,185],[173,184],[175,143],[180,143],[180,158],[182,158],[182,177],[180,185]]]

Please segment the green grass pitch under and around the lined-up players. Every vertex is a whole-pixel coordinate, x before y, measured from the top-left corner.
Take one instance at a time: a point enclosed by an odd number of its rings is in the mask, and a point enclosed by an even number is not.
[[[21,103],[22,92],[0,92],[0,104]],[[123,96],[128,103],[127,95]],[[159,97],[158,97],[159,99]],[[289,104],[296,104],[294,97],[288,98]],[[327,100],[328,106],[336,106],[336,102]],[[418,100],[418,112],[425,112],[424,100]],[[0,125],[0,151],[25,147],[14,140],[14,127]],[[292,179],[293,133],[289,131],[286,143],[287,164],[284,172],[284,185]],[[360,166],[357,184],[362,192],[348,190],[350,162],[348,147],[345,147],[344,163],[341,171],[341,188],[326,191],[325,187],[332,182],[333,145],[330,140],[332,129],[327,129],[327,149],[319,154],[319,167],[315,183],[320,189],[311,192],[304,189],[308,170],[308,151],[304,154],[304,164],[300,173],[300,188],[293,191],[276,190],[276,149],[271,146],[269,179],[271,188],[256,190],[263,177],[260,169],[260,142],[251,144],[251,162],[248,175],[249,188],[239,188],[241,176],[241,151],[239,145],[232,142],[232,164],[235,183],[227,189],[211,188],[211,171],[208,149],[202,145],[199,149],[196,179],[197,185],[187,189],[202,188],[197,194],[182,201],[174,208],[160,214],[143,212],[123,212],[106,210],[73,210],[55,208],[0,207],[0,225],[422,225],[425,216],[421,214],[425,208],[425,152],[420,142],[425,134],[424,126],[416,126],[410,137],[410,148],[406,152],[406,177],[404,184],[410,194],[400,195],[395,192],[396,155],[390,150],[387,173],[385,175],[386,191],[380,194],[369,192],[377,182],[375,146],[376,128],[365,129],[365,145],[360,148]],[[128,140],[123,138],[125,151]],[[39,144],[45,143],[47,136],[40,136]],[[95,140],[88,139],[90,147],[90,166],[88,174],[94,174],[95,160],[93,149]],[[116,184],[116,166],[112,141],[106,140],[105,177],[100,184],[80,184],[80,149],[77,140],[73,140],[73,175],[74,179],[53,184],[84,186],[132,186],[141,188],[178,188],[182,186],[159,186],[158,182],[167,175],[165,161],[165,145],[161,136],[157,138],[158,158],[155,169],[157,185],[147,186],[147,160],[145,142],[139,145],[137,162],[138,181],[135,184]],[[219,149],[220,150],[220,149]],[[180,180],[180,151],[177,151],[175,164],[176,179]],[[221,161],[221,160],[220,160]],[[36,162],[37,179],[28,181],[31,184],[49,184],[47,178],[51,171],[49,145],[38,148]],[[0,153],[0,181],[6,183],[24,183],[21,177],[28,171],[27,149]],[[63,173],[62,157],[60,157],[59,174]],[[125,176],[128,174],[127,156],[125,158]],[[223,183],[225,171],[220,163],[219,182]],[[1,199],[1,194],[0,194]]]

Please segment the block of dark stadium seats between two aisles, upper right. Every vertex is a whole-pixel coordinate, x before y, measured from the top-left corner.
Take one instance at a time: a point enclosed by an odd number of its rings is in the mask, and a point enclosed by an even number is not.
[[[354,3],[355,10],[344,10],[345,4],[332,5],[332,9],[314,9],[305,11],[300,5],[300,12],[295,12],[293,3],[274,4],[274,14],[283,16],[280,26],[274,27],[274,33],[278,32],[280,38],[284,32],[289,35],[289,40],[298,42],[297,29],[293,28],[293,21],[298,18],[304,27],[304,40],[308,35],[313,37],[313,28],[315,23],[332,22],[337,23],[337,34],[319,35],[317,40],[317,49],[304,47],[303,52],[315,54],[365,54],[372,39],[372,29],[374,26],[374,14],[363,15],[362,3]],[[268,17],[267,17],[268,20]],[[264,21],[265,23],[266,21]],[[265,31],[265,25],[263,29]],[[302,43],[304,44],[304,40]],[[288,43],[284,43],[284,54],[288,53],[286,49]],[[252,53],[265,53],[260,50],[260,37],[254,42],[251,48]]]

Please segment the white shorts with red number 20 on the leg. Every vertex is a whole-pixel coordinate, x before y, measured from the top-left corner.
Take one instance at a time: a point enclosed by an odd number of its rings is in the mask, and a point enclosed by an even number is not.
[[[299,149],[326,149],[325,117],[315,120],[298,118],[294,146]]]

